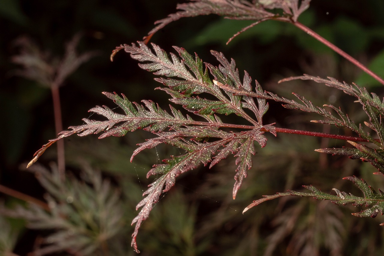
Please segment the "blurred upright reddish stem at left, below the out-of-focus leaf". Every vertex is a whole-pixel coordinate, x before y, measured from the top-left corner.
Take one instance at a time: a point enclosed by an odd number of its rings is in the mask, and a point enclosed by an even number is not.
[[[59,134],[63,130],[63,122],[61,118],[61,104],[59,86],[53,84],[51,86],[52,100],[53,100],[53,113],[55,116],[55,130]],[[61,181],[65,180],[65,155],[64,155],[64,141],[57,142],[57,166]]]

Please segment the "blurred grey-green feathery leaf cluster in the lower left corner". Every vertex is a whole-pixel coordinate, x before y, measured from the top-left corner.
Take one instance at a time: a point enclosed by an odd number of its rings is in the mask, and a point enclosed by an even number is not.
[[[12,218],[23,218],[32,229],[54,230],[43,239],[36,255],[68,251],[81,255],[105,255],[124,226],[119,192],[99,171],[84,166],[81,180],[74,176],[62,182],[56,166],[51,171],[32,168],[46,189],[48,208],[36,204],[27,208],[3,209]],[[48,210],[48,211],[47,211]]]

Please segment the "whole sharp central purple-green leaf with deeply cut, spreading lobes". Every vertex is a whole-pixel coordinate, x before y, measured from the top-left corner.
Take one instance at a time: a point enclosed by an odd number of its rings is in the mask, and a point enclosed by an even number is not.
[[[217,164],[229,154],[236,157],[237,173],[233,188],[233,199],[247,177],[247,170],[252,168],[252,156],[255,154],[255,141],[262,147],[266,145],[266,131],[276,136],[275,127],[263,125],[262,117],[268,110],[268,103],[263,98],[253,100],[250,95],[235,95],[230,88],[245,88],[252,91],[252,79],[245,72],[243,82],[240,80],[235,61],[228,62],[222,53],[212,52],[220,62],[218,67],[209,63],[204,64],[195,54],[193,57],[185,49],[174,47],[178,55],[168,54],[160,47],[152,44],[153,51],[144,43],[139,45],[123,45],[117,47],[113,52],[116,54],[121,49],[131,54],[131,57],[138,60],[139,66],[155,75],[166,76],[167,78],[156,78],[166,88],[158,88],[166,91],[172,96],[170,101],[182,105],[194,115],[202,116],[206,121],[195,121],[190,116],[170,106],[171,113],[162,110],[156,103],[143,100],[142,104],[129,101],[124,94],[107,93],[108,98],[114,101],[124,114],[116,113],[107,106],[96,106],[89,110],[104,116],[107,120],[83,119],[84,125],[70,126],[68,131],[62,131],[60,136],[43,146],[35,153],[35,157],[28,166],[33,164],[37,158],[55,141],[77,133],[79,136],[86,136],[103,132],[99,138],[108,136],[124,136],[128,131],[143,129],[150,131],[155,137],[139,143],[138,148],[133,152],[131,161],[138,153],[147,148],[154,148],[164,143],[174,146],[185,153],[179,156],[163,160],[164,164],[154,165],[147,173],[147,177],[156,175],[156,179],[144,192],[141,202],[136,209],[141,208],[132,225],[136,223],[132,234],[131,245],[138,252],[136,237],[142,222],[148,218],[154,204],[159,201],[162,193],[169,191],[175,184],[175,179],[200,165],[210,164],[210,168]],[[113,56],[112,56],[113,57]],[[216,80],[212,81],[209,73]],[[222,83],[225,83],[223,87]],[[261,86],[256,83],[258,95],[265,95]],[[217,100],[201,98],[200,93],[210,94]],[[254,120],[243,108],[248,108],[256,116]],[[250,111],[249,111],[250,112]],[[223,123],[218,114],[229,115],[235,113],[248,120],[252,125],[236,125]],[[250,113],[252,114],[252,113]],[[242,131],[224,131],[222,128],[240,128]]]

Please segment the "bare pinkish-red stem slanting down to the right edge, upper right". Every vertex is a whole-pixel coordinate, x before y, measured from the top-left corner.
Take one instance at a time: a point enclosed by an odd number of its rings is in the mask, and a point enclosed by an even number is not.
[[[376,75],[375,73],[373,73],[369,68],[367,68],[366,66],[364,66],[362,63],[358,62],[358,60],[356,60],[355,58],[353,58],[351,55],[349,55],[348,53],[344,52],[343,50],[341,50],[340,48],[338,48],[336,45],[334,45],[333,43],[329,42],[328,40],[326,40],[324,37],[322,37],[321,35],[319,35],[318,33],[314,32],[313,30],[311,30],[310,28],[306,27],[305,25],[301,24],[300,22],[291,22],[293,25],[295,25],[296,27],[300,28],[301,30],[303,30],[304,32],[306,32],[308,35],[312,36],[313,38],[316,38],[319,42],[323,43],[324,45],[328,46],[329,48],[331,48],[332,50],[334,50],[335,52],[339,53],[342,57],[346,58],[347,60],[349,60],[350,62],[352,62],[354,65],[358,66],[358,68],[360,68],[361,70],[363,70],[364,72],[366,72],[368,75],[372,76],[373,78],[375,78],[377,81],[379,81],[379,83],[381,83],[382,85],[384,85],[384,80]]]

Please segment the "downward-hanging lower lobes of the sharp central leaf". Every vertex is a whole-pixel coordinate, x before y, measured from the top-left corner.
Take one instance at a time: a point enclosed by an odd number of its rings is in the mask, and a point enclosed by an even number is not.
[[[136,236],[141,223],[148,218],[149,213],[153,208],[153,204],[157,203],[160,195],[169,191],[169,189],[174,186],[175,178],[180,174],[195,169],[199,167],[200,164],[207,165],[212,161],[212,155],[217,151],[219,151],[219,153],[210,164],[210,168],[223,158],[226,158],[230,153],[237,157],[236,164],[238,165],[238,168],[237,174],[235,175],[236,183],[233,189],[234,199],[242,184],[243,178],[247,176],[246,170],[252,167],[251,156],[255,154],[254,141],[257,141],[261,146],[265,146],[266,138],[260,130],[261,128],[257,128],[239,133],[226,133],[207,128],[203,129],[196,127],[195,130],[182,128],[175,132],[156,133],[159,136],[158,138],[149,139],[146,143],[142,143],[141,147],[134,152],[134,155],[144,148],[152,148],[159,143],[167,143],[177,146],[178,148],[186,150],[187,153],[180,156],[172,156],[171,159],[163,160],[165,164],[154,165],[154,168],[148,172],[147,177],[151,175],[162,176],[149,185],[149,189],[143,194],[143,196],[146,197],[136,206],[136,209],[139,209],[140,207],[142,207],[142,209],[132,221],[132,224],[136,223],[131,243],[135,250],[137,251]],[[220,137],[222,139],[205,143],[199,143],[197,141],[191,143],[190,141],[184,140],[187,136],[205,137],[207,135],[210,137]],[[221,146],[224,146],[224,148],[219,150]]]

